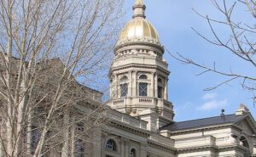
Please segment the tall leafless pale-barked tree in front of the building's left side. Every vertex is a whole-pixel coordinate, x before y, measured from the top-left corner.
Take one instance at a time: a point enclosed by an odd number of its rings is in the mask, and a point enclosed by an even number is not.
[[[121,5],[122,0],[1,0],[4,156],[36,157],[54,150],[55,156],[74,156],[73,127],[82,124],[88,137],[92,126],[104,122],[100,93],[78,80],[91,80],[108,67]],[[90,113],[79,113],[84,106]]]

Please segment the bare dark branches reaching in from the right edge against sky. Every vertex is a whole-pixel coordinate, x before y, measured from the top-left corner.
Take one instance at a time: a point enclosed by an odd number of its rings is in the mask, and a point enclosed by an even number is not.
[[[224,20],[213,19],[208,15],[203,15],[195,11],[195,14],[198,14],[204,20],[207,20],[207,24],[212,31],[212,37],[204,36],[201,32],[196,31],[192,28],[199,36],[201,36],[207,42],[212,43],[215,46],[220,48],[225,48],[227,53],[231,53],[236,56],[238,59],[244,60],[246,63],[251,64],[256,69],[256,25],[250,25],[246,20],[236,21],[234,19],[234,12],[239,6],[245,6],[247,8],[247,14],[249,14],[253,20],[256,20],[256,2],[254,0],[211,0],[212,5],[218,10],[220,14],[223,14]],[[230,4],[231,3],[231,4]],[[223,39],[222,36],[218,33],[218,30],[215,29],[216,25],[221,25],[230,30],[230,36],[226,36]],[[168,50],[167,50],[168,51]],[[241,81],[241,86],[247,89],[250,92],[255,92],[256,90],[256,77],[247,76],[234,72],[233,70],[223,71],[218,70],[216,62],[212,66],[207,66],[205,64],[200,64],[194,59],[183,56],[180,53],[172,54],[173,58],[185,63],[192,64],[197,67],[200,67],[203,71],[198,74],[201,76],[203,74],[212,72],[221,76],[227,76],[228,79],[220,82],[218,85],[209,87],[206,90],[216,89],[230,81],[239,80]],[[253,102],[255,102],[256,97],[253,96]]]

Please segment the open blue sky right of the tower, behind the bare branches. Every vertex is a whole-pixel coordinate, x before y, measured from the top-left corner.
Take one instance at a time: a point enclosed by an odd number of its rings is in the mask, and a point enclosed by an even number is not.
[[[221,1],[220,1],[221,2]],[[231,2],[231,1],[230,1]],[[125,0],[125,19],[131,19],[133,0]],[[216,61],[218,70],[230,70],[245,75],[254,75],[253,67],[230,55],[224,48],[213,46],[195,34],[191,27],[206,36],[212,36],[207,21],[201,19],[192,8],[201,14],[223,19],[210,0],[144,0],[147,6],[147,19],[154,25],[160,35],[160,42],[172,53],[181,53],[199,63],[212,65]],[[247,16],[246,8],[236,8],[235,20],[253,21]],[[219,36],[229,36],[229,30],[215,25]],[[201,69],[178,62],[166,53],[169,63],[169,100],[174,104],[175,121],[218,116],[221,109],[225,114],[233,114],[239,104],[246,104],[255,116],[256,109],[251,99],[253,93],[241,88],[241,81],[232,81],[229,85],[218,87],[213,91],[204,89],[224,81],[224,76],[206,74],[196,76]]]

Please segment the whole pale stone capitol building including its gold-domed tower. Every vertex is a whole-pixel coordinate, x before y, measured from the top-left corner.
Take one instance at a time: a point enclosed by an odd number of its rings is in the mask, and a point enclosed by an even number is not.
[[[143,1],[137,0],[133,17],[114,48],[108,106],[102,105],[102,93],[70,81],[61,97],[65,108],[57,109],[54,123],[45,132],[44,156],[256,157],[256,122],[243,104],[232,115],[174,121],[165,51],[156,29],[146,20],[145,9]],[[55,93],[53,85],[61,76],[57,71],[62,70],[62,63],[59,59],[48,62],[42,74],[48,84],[37,85],[37,89],[44,93],[45,86],[50,85],[47,90]],[[26,135],[21,136],[22,156],[34,155],[44,126],[40,120],[49,110],[47,103],[37,103]],[[3,120],[7,116],[3,112],[0,98],[0,133],[4,137]],[[3,146],[0,143],[0,157],[9,156]]]

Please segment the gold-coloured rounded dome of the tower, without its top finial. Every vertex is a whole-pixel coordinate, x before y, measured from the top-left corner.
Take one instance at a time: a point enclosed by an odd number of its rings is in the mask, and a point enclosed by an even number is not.
[[[159,36],[154,26],[142,17],[130,20],[124,27],[119,36],[119,41],[131,38],[149,38],[159,41]]]

